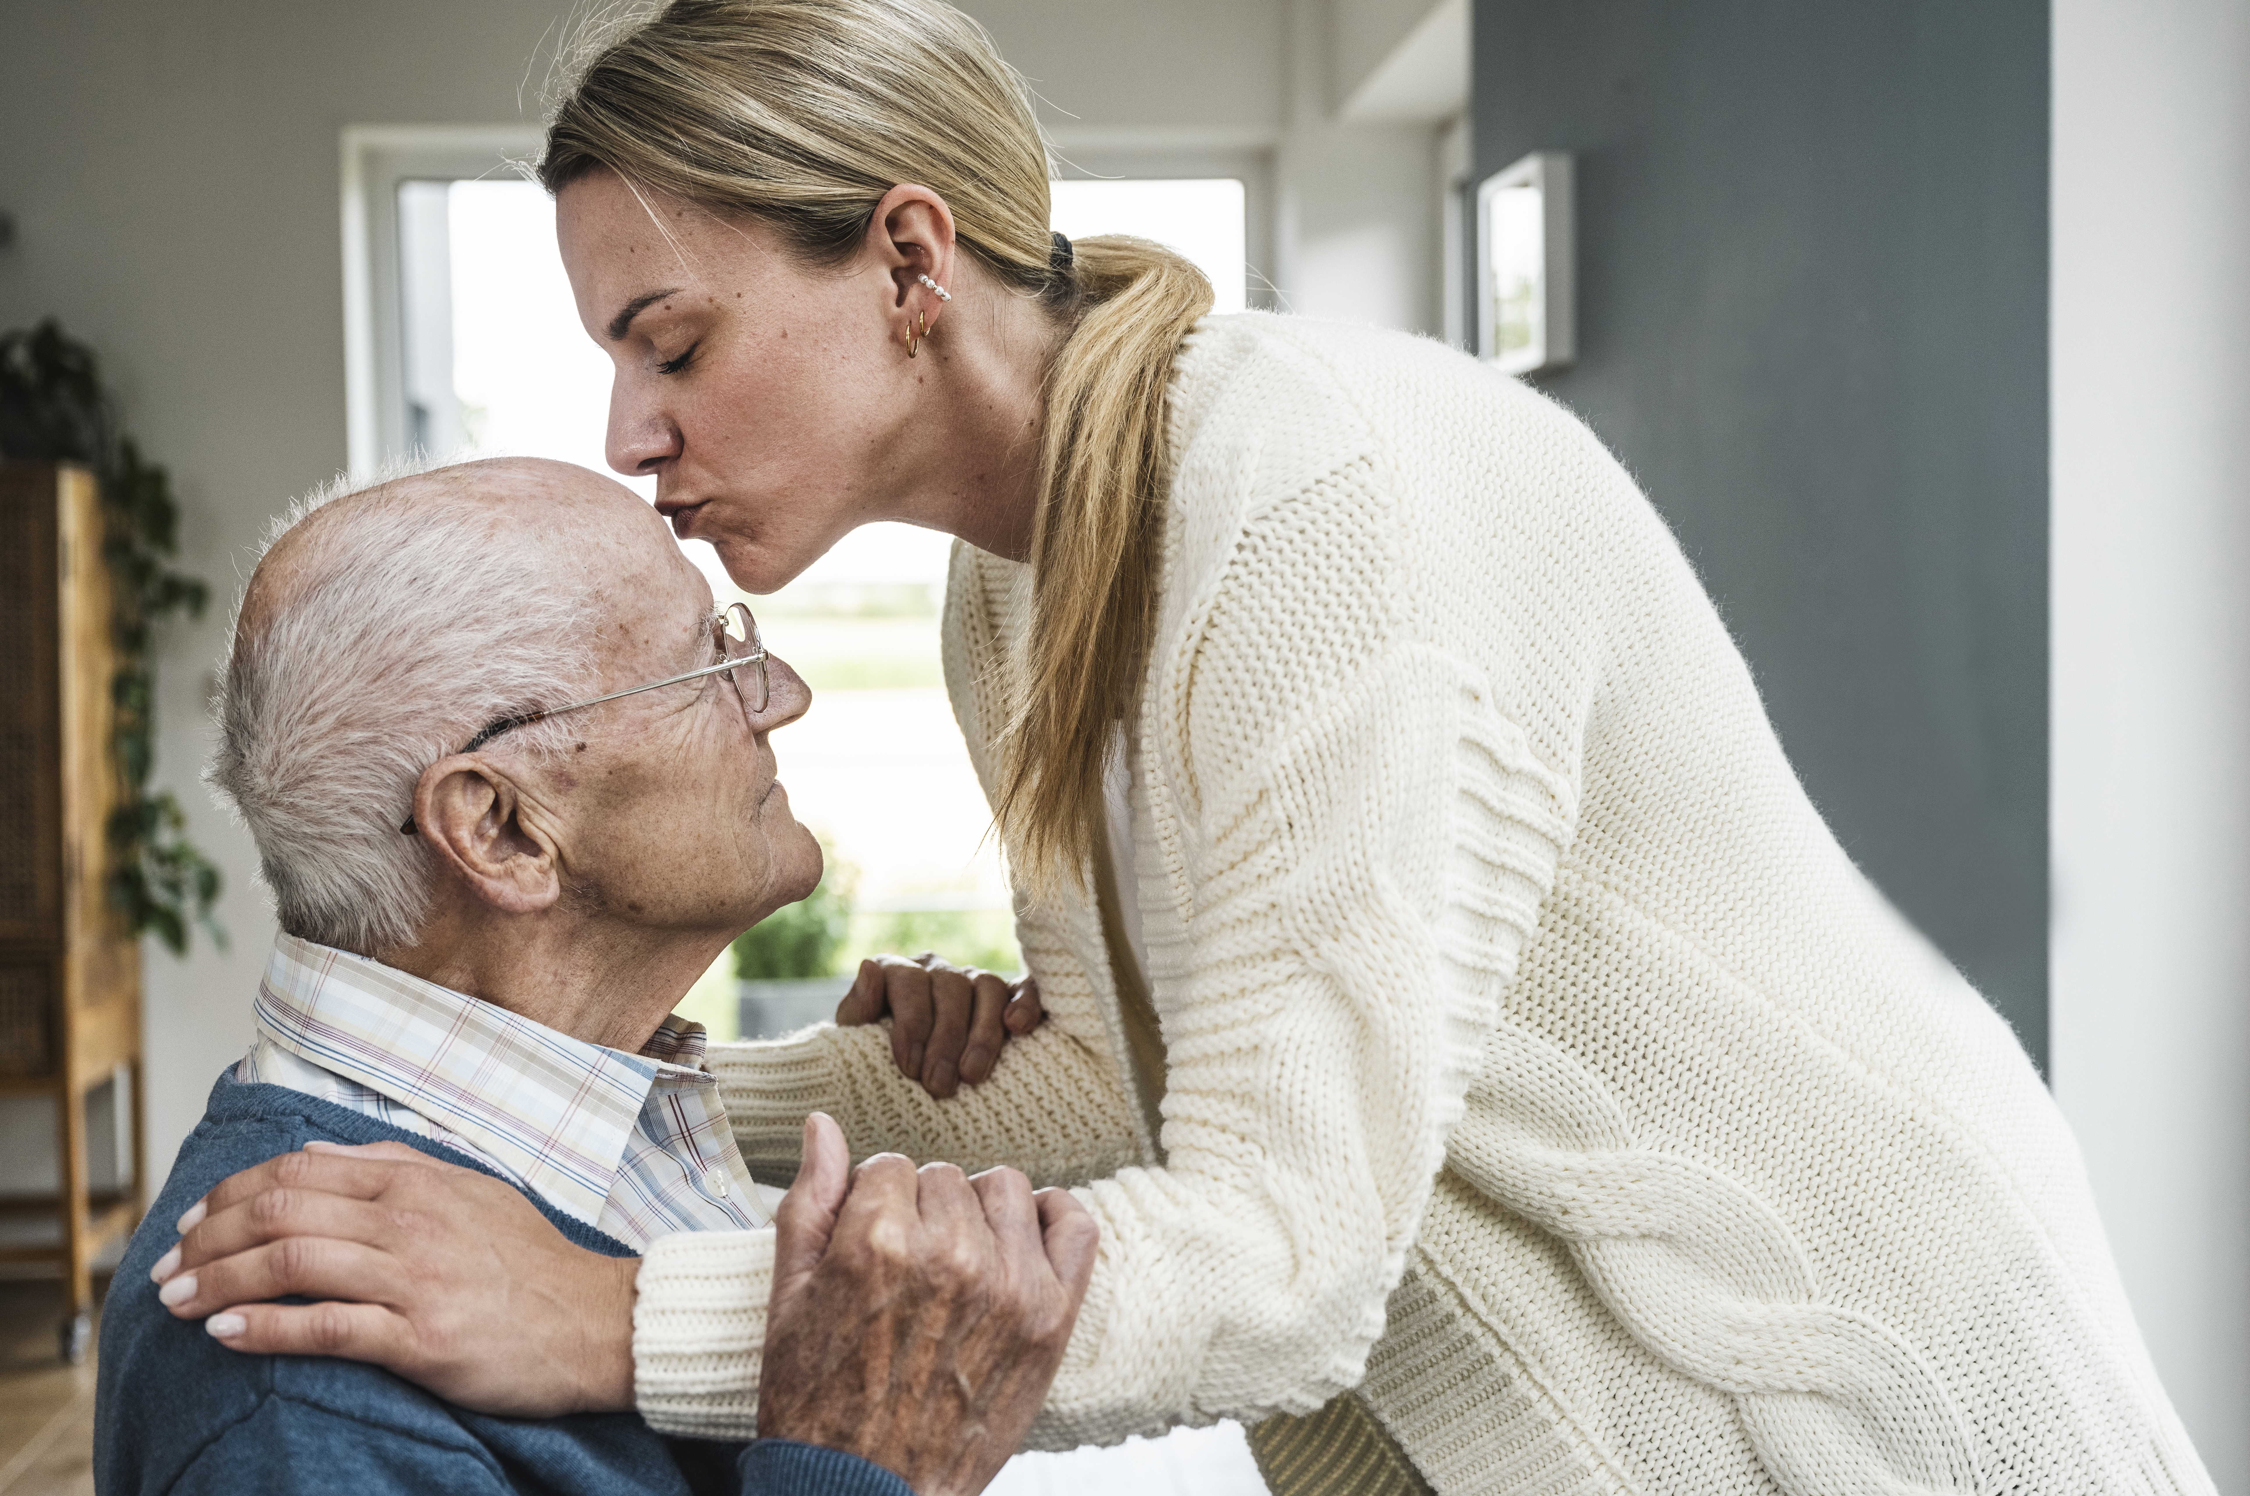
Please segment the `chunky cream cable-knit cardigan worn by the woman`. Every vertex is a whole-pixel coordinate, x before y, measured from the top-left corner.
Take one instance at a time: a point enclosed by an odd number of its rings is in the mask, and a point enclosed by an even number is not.
[[[2061,1116],[1602,445],[1438,344],[1269,315],[1199,324],[1170,423],[1130,745],[1161,1141],[1062,898],[1019,918],[1048,1024],[954,1100],[878,1028],[713,1046],[742,1154],[819,1107],[1080,1186],[1037,1447],[1359,1388],[1440,1492],[2207,1492]],[[1026,610],[956,547],[988,792]],[[770,1264],[652,1246],[659,1429],[749,1433]]]

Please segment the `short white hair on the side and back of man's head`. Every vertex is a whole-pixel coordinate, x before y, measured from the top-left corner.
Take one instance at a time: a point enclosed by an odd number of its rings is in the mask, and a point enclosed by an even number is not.
[[[286,578],[252,576],[236,603],[202,778],[250,828],[281,929],[374,956],[430,913],[434,857],[400,832],[423,769],[488,722],[587,695],[592,668],[549,538],[479,502],[475,466],[326,484],[259,556],[344,499],[295,538]],[[565,738],[540,722],[502,742]]]

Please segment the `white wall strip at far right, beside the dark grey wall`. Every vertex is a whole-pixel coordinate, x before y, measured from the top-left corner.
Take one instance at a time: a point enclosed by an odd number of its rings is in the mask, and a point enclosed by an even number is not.
[[[2054,1093],[2250,1492],[2250,7],[2054,4]]]

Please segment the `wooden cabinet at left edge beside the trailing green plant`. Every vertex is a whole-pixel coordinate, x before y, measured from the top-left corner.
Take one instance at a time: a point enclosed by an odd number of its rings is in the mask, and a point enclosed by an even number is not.
[[[56,1222],[54,1244],[0,1246],[52,1262],[63,1354],[86,1350],[90,1262],[140,1222],[144,1145],[140,940],[108,900],[115,632],[101,499],[83,468],[0,463],[0,1096],[56,1109],[52,1195],[0,1197]],[[115,1084],[130,1136],[117,1188],[88,1188],[86,1098]]]

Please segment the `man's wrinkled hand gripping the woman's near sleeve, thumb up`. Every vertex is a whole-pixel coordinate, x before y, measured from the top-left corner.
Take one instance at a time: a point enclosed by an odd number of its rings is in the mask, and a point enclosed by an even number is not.
[[[848,1170],[814,1114],[781,1204],[758,1435],[972,1496],[1022,1444],[1078,1323],[1098,1228],[1015,1170],[878,1154]]]

